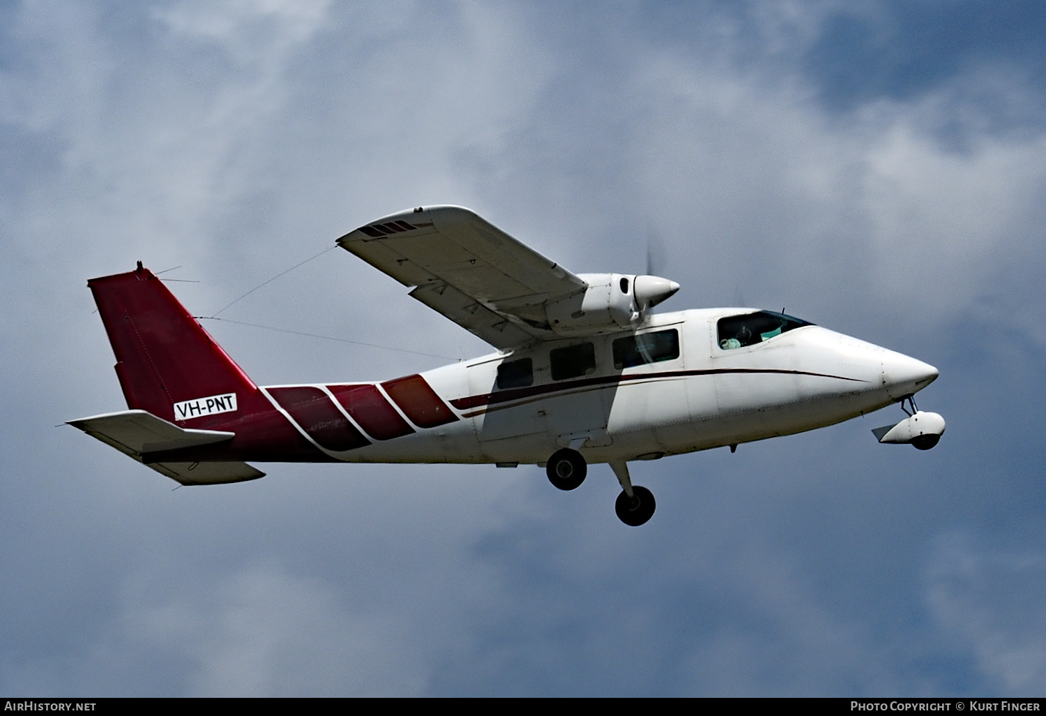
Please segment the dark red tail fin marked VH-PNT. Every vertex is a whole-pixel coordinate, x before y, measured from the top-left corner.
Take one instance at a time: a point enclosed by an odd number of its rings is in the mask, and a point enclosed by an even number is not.
[[[169,421],[271,409],[247,374],[149,269],[87,283],[116,354],[128,407]],[[231,396],[231,398],[230,398]]]

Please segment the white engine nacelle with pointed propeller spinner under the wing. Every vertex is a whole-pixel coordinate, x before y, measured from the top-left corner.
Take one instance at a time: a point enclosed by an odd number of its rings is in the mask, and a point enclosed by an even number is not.
[[[579,273],[588,288],[549,301],[545,315],[552,331],[564,336],[620,331],[642,320],[645,312],[672,296],[679,284],[659,276]]]

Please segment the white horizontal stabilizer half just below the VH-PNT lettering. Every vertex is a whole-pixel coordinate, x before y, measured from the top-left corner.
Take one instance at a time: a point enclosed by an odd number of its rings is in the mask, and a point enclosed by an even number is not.
[[[146,410],[121,410],[68,421],[103,443],[140,458],[143,452],[177,450],[232,440],[236,433],[224,430],[194,430],[178,427]]]

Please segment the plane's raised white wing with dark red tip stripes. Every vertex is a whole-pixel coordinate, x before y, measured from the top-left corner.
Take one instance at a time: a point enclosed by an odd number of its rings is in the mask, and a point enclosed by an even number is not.
[[[361,226],[338,245],[498,349],[552,338],[545,305],[588,284],[461,206],[426,206]]]

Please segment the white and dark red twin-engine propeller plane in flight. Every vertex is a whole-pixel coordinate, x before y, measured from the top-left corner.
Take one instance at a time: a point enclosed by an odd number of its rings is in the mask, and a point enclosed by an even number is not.
[[[907,418],[879,442],[928,450],[945,432],[913,399],[932,365],[781,312],[653,313],[679,284],[571,273],[463,207],[393,214],[337,245],[497,351],[380,382],[258,386],[139,261],[88,282],[129,409],[69,424],[181,485],[263,477],[248,461],[455,463],[538,465],[573,490],[606,463],[632,527],[656,501],[631,462],[894,403]]]

